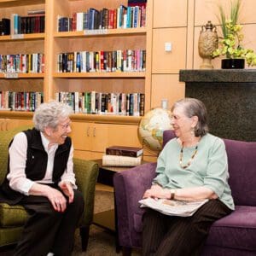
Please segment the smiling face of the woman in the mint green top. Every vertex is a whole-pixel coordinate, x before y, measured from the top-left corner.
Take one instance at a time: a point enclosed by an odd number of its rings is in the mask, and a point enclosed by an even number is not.
[[[191,129],[196,123],[197,117],[187,117],[182,106],[173,109],[171,124],[177,137],[191,137]]]

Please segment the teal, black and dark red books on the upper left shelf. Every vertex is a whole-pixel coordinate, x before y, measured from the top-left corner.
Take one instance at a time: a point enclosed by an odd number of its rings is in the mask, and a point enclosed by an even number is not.
[[[30,34],[44,32],[45,15],[11,15],[11,34]]]

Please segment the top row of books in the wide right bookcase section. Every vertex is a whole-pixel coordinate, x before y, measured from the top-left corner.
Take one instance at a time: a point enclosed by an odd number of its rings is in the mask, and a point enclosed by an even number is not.
[[[124,6],[117,9],[87,9],[72,17],[58,16],[58,32],[146,26],[146,6]]]

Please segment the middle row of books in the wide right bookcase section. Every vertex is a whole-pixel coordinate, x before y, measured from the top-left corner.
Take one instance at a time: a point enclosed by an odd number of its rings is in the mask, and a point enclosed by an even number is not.
[[[141,72],[146,69],[146,50],[80,51],[58,55],[59,73]]]

